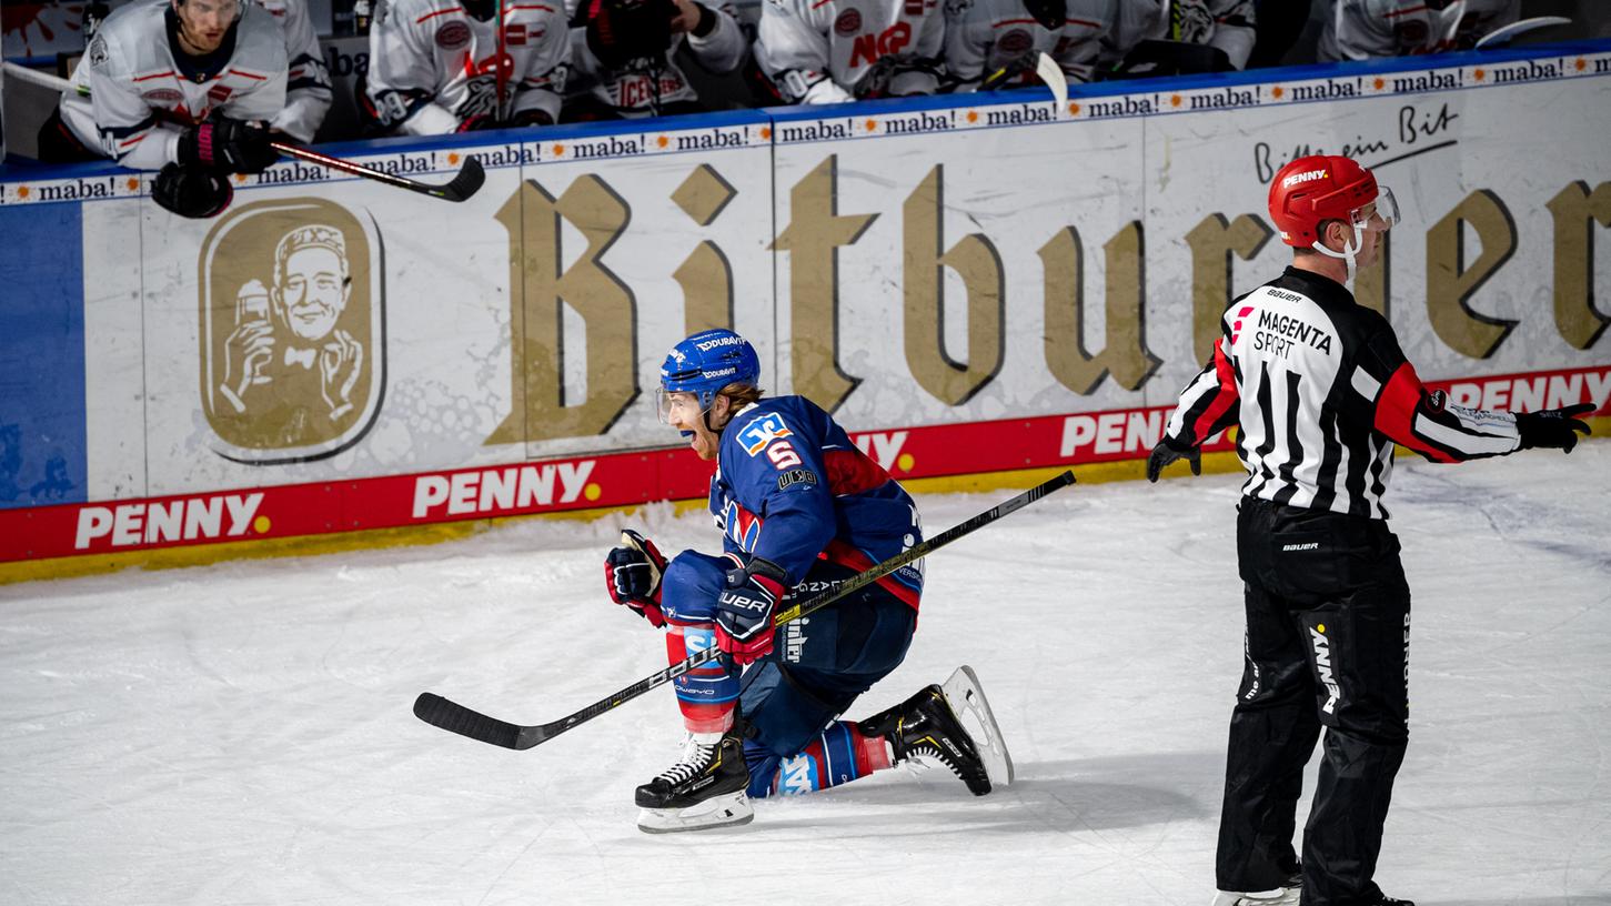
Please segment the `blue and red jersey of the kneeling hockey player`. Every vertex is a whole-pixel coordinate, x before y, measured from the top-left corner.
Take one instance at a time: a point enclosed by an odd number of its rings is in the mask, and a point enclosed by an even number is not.
[[[820,406],[768,397],[722,432],[710,513],[728,553],[783,567],[789,585],[822,558],[862,571],[923,540],[917,505]],[[880,584],[918,606],[921,561]]]

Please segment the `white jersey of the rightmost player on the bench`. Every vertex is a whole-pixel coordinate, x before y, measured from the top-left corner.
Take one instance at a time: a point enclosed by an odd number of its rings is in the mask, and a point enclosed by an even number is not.
[[[1471,50],[1521,16],[1521,0],[1336,0],[1319,35],[1326,61]]]

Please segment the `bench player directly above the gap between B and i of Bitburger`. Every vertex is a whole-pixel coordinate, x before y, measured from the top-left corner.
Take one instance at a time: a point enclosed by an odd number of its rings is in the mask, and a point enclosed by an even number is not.
[[[567,121],[699,113],[678,56],[714,74],[744,61],[749,42],[715,0],[590,0],[572,31]]]

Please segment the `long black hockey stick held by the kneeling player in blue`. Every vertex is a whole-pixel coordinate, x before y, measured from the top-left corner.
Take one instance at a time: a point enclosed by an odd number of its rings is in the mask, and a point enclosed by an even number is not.
[[[1050,480],[1041,482],[1039,485],[1020,493],[1012,500],[997,503],[991,509],[979,513],[978,516],[968,519],[967,522],[962,522],[960,526],[946,529],[944,532],[934,535],[933,538],[928,538],[883,563],[873,564],[863,569],[862,572],[857,572],[855,576],[846,579],[844,582],[839,582],[839,585],[834,588],[820,592],[797,605],[778,611],[772,617],[772,625],[780,627],[806,614],[815,613],[831,605],[833,601],[838,601],[839,598],[849,595],[851,592],[863,588],[883,579],[884,576],[889,576],[896,569],[901,569],[902,566],[949,545],[950,542],[960,538],[962,535],[967,535],[975,529],[989,526],[991,522],[1000,519],[1002,516],[1007,516],[1015,509],[1021,509],[1034,503],[1036,500],[1041,500],[1042,497],[1052,493],[1054,490],[1068,487],[1071,484],[1075,484],[1075,474],[1066,471]],[[559,734],[569,730],[570,727],[575,727],[577,724],[585,724],[593,717],[598,717],[599,714],[614,709],[617,704],[622,704],[623,701],[632,701],[633,698],[638,698],[640,695],[649,692],[657,685],[672,682],[673,679],[686,674],[688,671],[717,659],[720,655],[722,651],[717,648],[706,648],[704,651],[699,651],[698,655],[688,658],[686,661],[681,661],[680,664],[672,664],[670,667],[665,667],[664,671],[651,677],[641,679],[628,685],[627,688],[611,695],[609,698],[594,701],[593,704],[588,704],[582,711],[577,711],[569,717],[561,717],[559,721],[554,721],[551,724],[533,724],[530,727],[522,727],[519,724],[511,724],[507,721],[488,717],[487,714],[472,711],[433,692],[422,692],[419,698],[414,700],[414,716],[419,717],[420,721],[425,721],[427,724],[441,727],[449,734],[459,734],[461,737],[470,737],[472,740],[480,740],[483,743],[499,745],[504,748],[517,748],[517,750],[532,748],[535,745],[546,743],[548,740],[557,737]]]

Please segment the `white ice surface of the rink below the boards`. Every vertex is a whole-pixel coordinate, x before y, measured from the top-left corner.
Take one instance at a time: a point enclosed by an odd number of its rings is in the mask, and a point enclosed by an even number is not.
[[[669,688],[530,751],[409,711],[553,721],[664,666],[603,595],[620,519],[0,587],[0,904],[1207,906],[1239,482],[1079,485],[930,558],[912,653],[851,717],[973,664],[1010,788],[896,769],[706,833],[633,824]],[[1010,493],[920,503],[934,534]],[[1413,708],[1377,880],[1611,904],[1611,443],[1400,459],[1387,503]],[[638,524],[717,547],[699,514]]]

